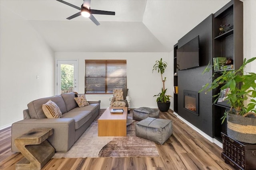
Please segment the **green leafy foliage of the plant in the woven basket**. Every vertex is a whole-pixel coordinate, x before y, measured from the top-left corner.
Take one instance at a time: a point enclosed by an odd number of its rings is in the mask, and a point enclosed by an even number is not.
[[[254,99],[256,98],[256,73],[244,72],[246,64],[251,63],[255,59],[256,57],[253,57],[248,61],[244,59],[242,66],[240,66],[238,70],[223,70],[220,76],[215,78],[212,83],[205,84],[199,92],[210,92],[219,86],[221,86],[220,90],[229,88],[229,92],[226,95],[225,100],[227,100],[231,106],[230,113],[234,113],[236,115],[244,115],[248,112],[256,113],[256,100]],[[208,72],[210,69],[212,68],[210,68],[208,64],[203,74]],[[216,74],[213,76],[216,76]],[[213,96],[214,98],[216,97],[214,103],[218,101],[219,95],[220,93]],[[250,103],[246,105],[245,103],[248,100]],[[223,121],[225,118],[226,113],[224,117],[222,117]]]

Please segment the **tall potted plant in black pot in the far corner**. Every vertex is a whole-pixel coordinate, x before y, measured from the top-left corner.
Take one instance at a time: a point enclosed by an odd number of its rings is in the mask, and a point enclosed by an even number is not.
[[[167,63],[165,61],[162,61],[162,58],[160,59],[160,61],[156,61],[156,63],[154,64],[153,66],[153,70],[152,72],[154,72],[154,70],[157,70],[158,72],[160,72],[161,74],[161,80],[162,80],[162,83],[163,83],[163,87],[162,87],[162,91],[157,94],[157,95],[154,95],[155,96],[158,96],[158,98],[156,99],[156,102],[157,102],[157,106],[158,106],[158,109],[160,111],[168,111],[168,109],[170,108],[170,95],[166,95],[166,90],[165,87],[164,87],[164,82],[166,81],[166,77],[164,77],[163,79],[163,73],[164,73],[164,70],[167,66]]]

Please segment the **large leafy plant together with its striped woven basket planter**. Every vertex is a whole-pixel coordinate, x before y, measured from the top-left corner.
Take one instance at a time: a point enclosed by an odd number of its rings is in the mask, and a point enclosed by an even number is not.
[[[212,83],[205,84],[199,91],[210,92],[218,87],[221,91],[228,88],[224,100],[230,104],[230,110],[224,113],[222,123],[227,118],[228,136],[245,143],[256,143],[256,73],[244,72],[246,64],[255,59],[256,57],[247,61],[244,59],[242,66],[237,70],[223,70]],[[208,64],[204,72],[210,69]],[[218,101],[219,96],[220,93],[213,96],[216,97],[214,103]]]

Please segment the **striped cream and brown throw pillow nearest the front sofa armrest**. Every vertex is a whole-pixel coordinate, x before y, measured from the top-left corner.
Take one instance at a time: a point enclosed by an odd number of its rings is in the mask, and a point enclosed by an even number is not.
[[[49,100],[46,104],[43,104],[42,109],[47,118],[60,118],[62,113],[60,107],[56,103]]]

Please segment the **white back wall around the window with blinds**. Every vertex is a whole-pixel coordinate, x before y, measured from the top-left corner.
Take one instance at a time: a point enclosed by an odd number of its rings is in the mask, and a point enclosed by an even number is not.
[[[167,94],[172,94],[170,90],[173,84],[171,70],[173,70],[173,57],[170,53],[55,53],[55,59],[78,59],[78,93],[84,93],[84,60],[85,59],[123,59],[127,61],[127,87],[128,95],[132,98],[131,108],[152,107],[157,108],[155,94],[162,88],[160,74],[152,73],[156,60],[163,59],[168,66],[164,73],[167,77],[165,83]],[[109,107],[109,97],[105,94],[88,94],[87,99],[101,100],[101,108]],[[172,102],[172,101],[171,101]],[[172,102],[173,103],[173,102]]]

